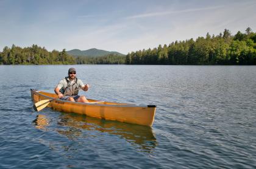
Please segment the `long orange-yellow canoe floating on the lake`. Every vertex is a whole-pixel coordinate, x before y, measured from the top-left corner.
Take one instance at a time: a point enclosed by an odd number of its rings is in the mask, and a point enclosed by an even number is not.
[[[34,103],[40,100],[57,98],[56,94],[30,89]],[[90,103],[77,103],[59,98],[49,103],[49,107],[63,112],[74,112],[106,120],[152,126],[155,117],[155,105],[138,106],[127,103],[104,102],[87,99]]]

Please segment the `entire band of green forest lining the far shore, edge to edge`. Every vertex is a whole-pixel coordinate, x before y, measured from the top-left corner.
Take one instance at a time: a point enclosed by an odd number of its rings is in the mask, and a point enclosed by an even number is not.
[[[245,33],[231,35],[225,29],[219,35],[175,41],[154,49],[103,57],[73,57],[65,49],[48,52],[44,47],[4,47],[0,64],[191,64],[191,65],[256,65],[256,33],[247,27]]]

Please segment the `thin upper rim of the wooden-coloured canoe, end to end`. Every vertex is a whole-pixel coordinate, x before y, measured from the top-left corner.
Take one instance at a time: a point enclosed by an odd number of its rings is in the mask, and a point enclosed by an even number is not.
[[[54,99],[54,97],[49,97],[48,95],[41,94],[40,90],[30,89],[30,91],[35,92],[35,94],[41,95],[43,97],[46,97],[46,98],[49,98],[49,99]],[[127,104],[127,105],[101,105],[101,104],[97,104],[97,103],[71,102],[71,101],[68,101],[68,100],[61,100],[59,98],[57,98],[56,101],[64,102],[64,103],[66,102],[66,103],[79,104],[79,105],[91,105],[91,106],[95,105],[95,106],[113,106],[113,107],[141,107],[141,108],[148,108],[148,107],[151,107],[151,106],[155,106],[155,105],[144,106],[144,105],[133,105],[133,104]],[[115,103],[115,102],[112,102],[112,103]]]

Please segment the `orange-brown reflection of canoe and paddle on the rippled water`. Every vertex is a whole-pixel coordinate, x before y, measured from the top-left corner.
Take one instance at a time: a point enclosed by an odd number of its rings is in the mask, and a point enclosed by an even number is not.
[[[45,126],[49,125],[49,120],[43,115],[38,115],[34,122],[35,126],[39,129],[44,129]],[[125,139],[139,151],[151,153],[157,145],[157,140],[152,132],[152,128],[148,126],[133,125],[67,113],[60,114],[57,125],[66,127],[65,129],[58,128],[56,131],[71,140],[76,140],[77,137],[82,136],[83,129],[85,129],[86,131],[99,131],[101,133],[117,135],[121,139]],[[92,134],[94,133],[92,132]]]

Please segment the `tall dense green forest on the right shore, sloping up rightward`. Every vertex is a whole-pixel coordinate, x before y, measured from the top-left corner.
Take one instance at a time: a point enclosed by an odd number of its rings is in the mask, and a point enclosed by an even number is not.
[[[248,27],[234,36],[219,35],[176,41],[169,46],[139,50],[126,55],[126,64],[256,64],[256,33]]]

